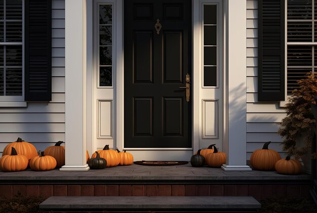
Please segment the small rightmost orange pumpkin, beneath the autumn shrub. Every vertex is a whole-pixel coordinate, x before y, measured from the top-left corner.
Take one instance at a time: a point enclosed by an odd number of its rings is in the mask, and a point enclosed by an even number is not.
[[[285,159],[280,159],[275,163],[275,170],[284,175],[297,175],[300,174],[302,165],[299,161],[287,156]]]

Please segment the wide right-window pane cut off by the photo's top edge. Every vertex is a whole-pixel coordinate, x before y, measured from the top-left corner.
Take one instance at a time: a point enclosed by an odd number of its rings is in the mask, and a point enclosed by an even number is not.
[[[311,19],[312,1],[311,0],[288,0],[287,16],[288,19]]]

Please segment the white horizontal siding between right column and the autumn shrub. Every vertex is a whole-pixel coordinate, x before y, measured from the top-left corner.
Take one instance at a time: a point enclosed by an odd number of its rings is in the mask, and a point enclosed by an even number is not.
[[[247,1],[247,159],[255,149],[272,141],[269,148],[284,156],[277,134],[280,122],[286,116],[279,103],[258,101],[258,1]]]

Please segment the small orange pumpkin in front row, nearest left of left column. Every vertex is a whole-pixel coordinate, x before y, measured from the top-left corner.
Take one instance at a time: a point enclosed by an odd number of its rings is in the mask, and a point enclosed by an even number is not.
[[[50,155],[45,155],[44,151],[39,150],[38,156],[30,160],[30,168],[35,171],[53,170],[57,163],[56,159]]]

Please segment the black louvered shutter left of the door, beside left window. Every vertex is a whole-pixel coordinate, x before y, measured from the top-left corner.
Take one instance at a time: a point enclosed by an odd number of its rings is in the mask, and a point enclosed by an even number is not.
[[[52,3],[25,0],[25,100],[52,99]]]

